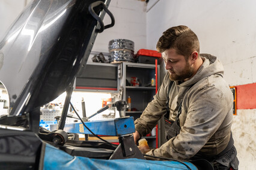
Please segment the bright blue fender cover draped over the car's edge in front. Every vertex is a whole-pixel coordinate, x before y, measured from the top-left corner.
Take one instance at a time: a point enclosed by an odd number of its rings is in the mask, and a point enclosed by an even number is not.
[[[44,153],[43,169],[193,169],[197,168],[190,162],[186,163],[189,168],[180,162],[175,161],[158,161],[142,159],[90,159],[88,157],[71,156],[70,154],[46,144]]]

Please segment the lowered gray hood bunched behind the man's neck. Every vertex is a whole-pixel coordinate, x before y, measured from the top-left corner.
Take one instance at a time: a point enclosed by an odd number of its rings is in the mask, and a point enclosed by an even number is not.
[[[197,83],[199,80],[209,77],[213,74],[224,75],[224,68],[222,63],[217,59],[217,57],[212,56],[211,54],[200,54],[200,57],[203,59],[203,64],[197,71],[197,74],[194,77],[190,78],[189,80],[181,83],[178,86],[191,86]]]

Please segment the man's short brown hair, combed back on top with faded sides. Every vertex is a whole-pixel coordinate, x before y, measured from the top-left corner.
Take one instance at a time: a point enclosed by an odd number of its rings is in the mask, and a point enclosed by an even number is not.
[[[174,48],[177,54],[187,57],[193,52],[200,53],[200,44],[197,35],[187,26],[174,26],[163,32],[159,38],[156,49],[159,53]]]

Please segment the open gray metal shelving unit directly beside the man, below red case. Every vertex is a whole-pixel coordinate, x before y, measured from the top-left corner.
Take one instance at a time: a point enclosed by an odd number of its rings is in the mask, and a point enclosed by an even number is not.
[[[157,65],[157,70],[159,70]],[[158,72],[158,71],[157,71]],[[139,86],[129,86],[130,78],[136,77]],[[138,119],[147,107],[148,103],[156,94],[156,86],[151,85],[151,79],[159,79],[156,76],[156,65],[146,63],[122,63],[122,75],[120,86],[123,87],[123,100],[127,101],[128,96],[132,98],[132,111],[125,111],[126,116],[133,116],[134,120]],[[159,82],[159,81],[157,81]],[[144,136],[151,148],[156,148],[156,136]]]

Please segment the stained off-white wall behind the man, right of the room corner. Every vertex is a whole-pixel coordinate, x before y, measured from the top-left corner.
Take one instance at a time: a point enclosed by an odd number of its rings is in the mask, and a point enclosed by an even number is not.
[[[147,48],[155,49],[162,32],[171,26],[189,26],[200,40],[201,53],[218,56],[224,65],[224,78],[230,86],[256,84],[256,1],[242,0],[160,0],[147,12]],[[246,86],[239,86],[239,88]],[[239,98],[237,102],[248,102]],[[254,103],[255,103],[254,96]],[[255,108],[237,110],[233,136],[240,169],[256,166]]]

